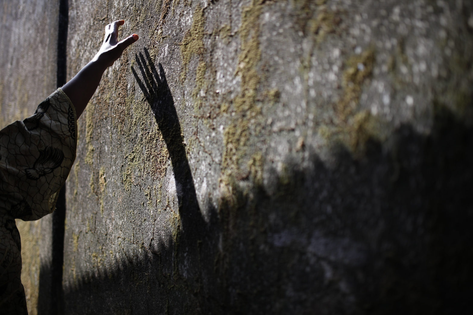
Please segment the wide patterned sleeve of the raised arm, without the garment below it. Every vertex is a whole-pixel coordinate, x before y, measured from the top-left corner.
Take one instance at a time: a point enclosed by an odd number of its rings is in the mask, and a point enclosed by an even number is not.
[[[76,122],[75,108],[59,88],[33,116],[0,131],[0,205],[13,218],[36,220],[53,212],[76,157]]]

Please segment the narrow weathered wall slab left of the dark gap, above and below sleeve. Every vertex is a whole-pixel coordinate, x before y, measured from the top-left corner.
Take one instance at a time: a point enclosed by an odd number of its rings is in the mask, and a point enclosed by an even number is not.
[[[34,114],[56,88],[57,1],[0,1],[0,128]],[[47,32],[45,32],[47,30]],[[51,218],[17,220],[26,303],[37,314],[40,288],[47,291]],[[41,266],[40,266],[41,265]],[[40,277],[40,269],[44,270]],[[44,301],[44,298],[43,298]]]

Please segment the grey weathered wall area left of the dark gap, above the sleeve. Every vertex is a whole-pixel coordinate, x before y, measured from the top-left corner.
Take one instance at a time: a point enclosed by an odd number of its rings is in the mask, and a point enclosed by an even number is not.
[[[2,127],[34,113],[56,87],[57,6],[56,1],[0,1]]]

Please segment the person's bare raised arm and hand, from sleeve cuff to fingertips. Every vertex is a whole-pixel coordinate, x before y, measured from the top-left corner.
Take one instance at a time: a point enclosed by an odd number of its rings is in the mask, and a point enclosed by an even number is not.
[[[118,42],[118,27],[124,23],[124,20],[118,20],[105,26],[104,43],[98,53],[74,78],[62,87],[62,90],[69,96],[70,101],[76,108],[77,118],[82,114],[88,101],[94,95],[105,69],[113,65],[123,51],[138,40],[138,35],[133,34]]]

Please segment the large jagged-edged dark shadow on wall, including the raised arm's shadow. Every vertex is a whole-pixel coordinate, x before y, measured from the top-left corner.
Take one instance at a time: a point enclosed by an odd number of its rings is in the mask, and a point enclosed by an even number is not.
[[[175,173],[174,241],[78,277],[68,314],[463,314],[473,294],[473,130],[444,106],[429,135],[401,126],[389,149],[334,150],[328,167],[233,194],[201,218],[163,67],[133,69]],[[140,72],[141,76],[139,75]],[[217,218],[218,213],[218,218]]]

